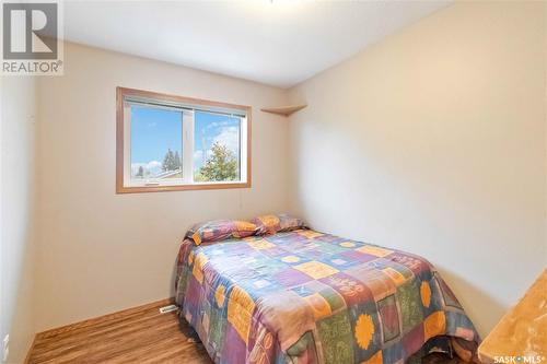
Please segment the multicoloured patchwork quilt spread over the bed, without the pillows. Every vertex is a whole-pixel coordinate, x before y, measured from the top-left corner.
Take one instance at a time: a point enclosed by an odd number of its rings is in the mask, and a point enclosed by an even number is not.
[[[185,239],[176,301],[216,363],[470,360],[479,342],[426,259],[312,230]]]

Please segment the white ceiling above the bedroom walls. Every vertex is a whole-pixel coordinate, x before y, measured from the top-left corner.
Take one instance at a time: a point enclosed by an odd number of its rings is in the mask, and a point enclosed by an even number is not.
[[[67,1],[65,38],[290,87],[452,1]]]

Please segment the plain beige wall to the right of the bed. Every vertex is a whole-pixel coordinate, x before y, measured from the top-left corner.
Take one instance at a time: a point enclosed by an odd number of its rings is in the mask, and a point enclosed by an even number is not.
[[[458,2],[291,90],[293,210],[429,258],[482,334],[546,265],[544,7]]]

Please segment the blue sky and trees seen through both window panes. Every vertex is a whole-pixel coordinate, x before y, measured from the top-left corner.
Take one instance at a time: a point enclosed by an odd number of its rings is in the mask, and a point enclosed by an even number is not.
[[[193,122],[194,181],[238,180],[240,118],[196,110]],[[182,179],[184,142],[182,110],[131,105],[131,179]]]

